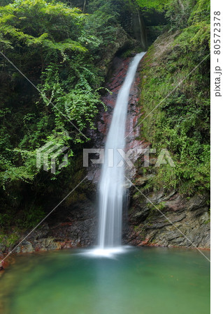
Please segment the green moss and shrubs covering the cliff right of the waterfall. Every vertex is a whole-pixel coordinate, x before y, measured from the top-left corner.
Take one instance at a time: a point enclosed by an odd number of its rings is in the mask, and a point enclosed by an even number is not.
[[[190,8],[187,26],[180,33],[161,36],[145,59],[141,105],[148,117],[143,121],[142,136],[157,151],[168,149],[175,163],[175,167],[157,168],[147,184],[150,190],[177,188],[185,195],[210,190],[210,22],[203,15],[209,13],[208,6],[208,1],[198,1]],[[176,23],[175,27],[183,25]],[[157,47],[165,42],[160,54]]]

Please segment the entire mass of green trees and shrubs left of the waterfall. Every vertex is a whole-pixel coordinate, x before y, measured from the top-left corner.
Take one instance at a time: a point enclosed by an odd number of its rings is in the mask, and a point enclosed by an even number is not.
[[[38,87],[0,56],[0,200],[3,215],[11,217],[8,224],[2,216],[6,229],[35,225],[50,208],[45,198],[53,202],[69,193],[64,186],[72,189],[83,179],[77,156],[99,107],[106,109],[100,93],[115,41],[127,36],[112,1],[91,1],[87,15],[63,2],[0,2],[0,50]],[[56,175],[36,168],[36,149],[48,142],[69,147],[69,163]],[[77,200],[84,197],[79,192],[73,193]]]

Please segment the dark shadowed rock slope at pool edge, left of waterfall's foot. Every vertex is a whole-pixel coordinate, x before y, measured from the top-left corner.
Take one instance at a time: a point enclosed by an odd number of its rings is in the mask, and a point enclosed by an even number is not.
[[[93,244],[96,244],[96,208],[93,202],[86,200],[69,209],[55,211],[50,220],[32,232],[15,252],[31,253]]]

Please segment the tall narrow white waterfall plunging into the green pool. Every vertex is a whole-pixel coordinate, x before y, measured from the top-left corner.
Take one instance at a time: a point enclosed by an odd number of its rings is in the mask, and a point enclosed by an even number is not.
[[[117,248],[122,244],[122,206],[124,188],[124,165],[117,149],[125,147],[125,125],[129,92],[134,82],[138,63],[145,52],[136,54],[129,66],[127,76],[117,95],[113,118],[106,140],[104,163],[99,181],[99,250]]]

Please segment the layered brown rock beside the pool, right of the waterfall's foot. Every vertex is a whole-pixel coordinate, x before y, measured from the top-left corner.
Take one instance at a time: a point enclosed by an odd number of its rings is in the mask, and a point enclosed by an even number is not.
[[[210,248],[210,212],[207,197],[182,197],[163,191],[131,202],[125,241],[139,246]]]

